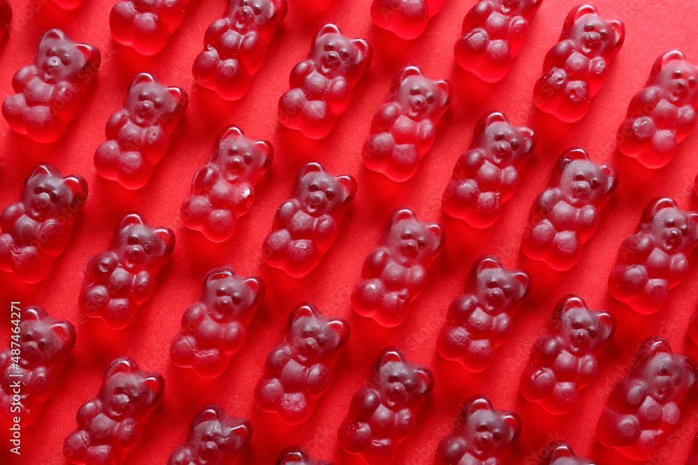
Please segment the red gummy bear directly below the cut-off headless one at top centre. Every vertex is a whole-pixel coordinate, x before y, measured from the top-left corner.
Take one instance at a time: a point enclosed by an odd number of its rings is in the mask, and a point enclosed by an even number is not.
[[[373,115],[362,151],[364,165],[393,181],[414,176],[452,97],[453,86],[446,79],[429,79],[417,66],[404,66],[393,79],[387,103]]]

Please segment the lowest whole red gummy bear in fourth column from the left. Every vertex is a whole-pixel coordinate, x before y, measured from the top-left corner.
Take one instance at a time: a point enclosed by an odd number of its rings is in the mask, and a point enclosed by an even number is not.
[[[315,402],[329,389],[332,366],[349,342],[346,320],[326,317],[304,302],[288,317],[283,342],[265,363],[265,374],[255,388],[255,403],[289,425],[310,418]]]

